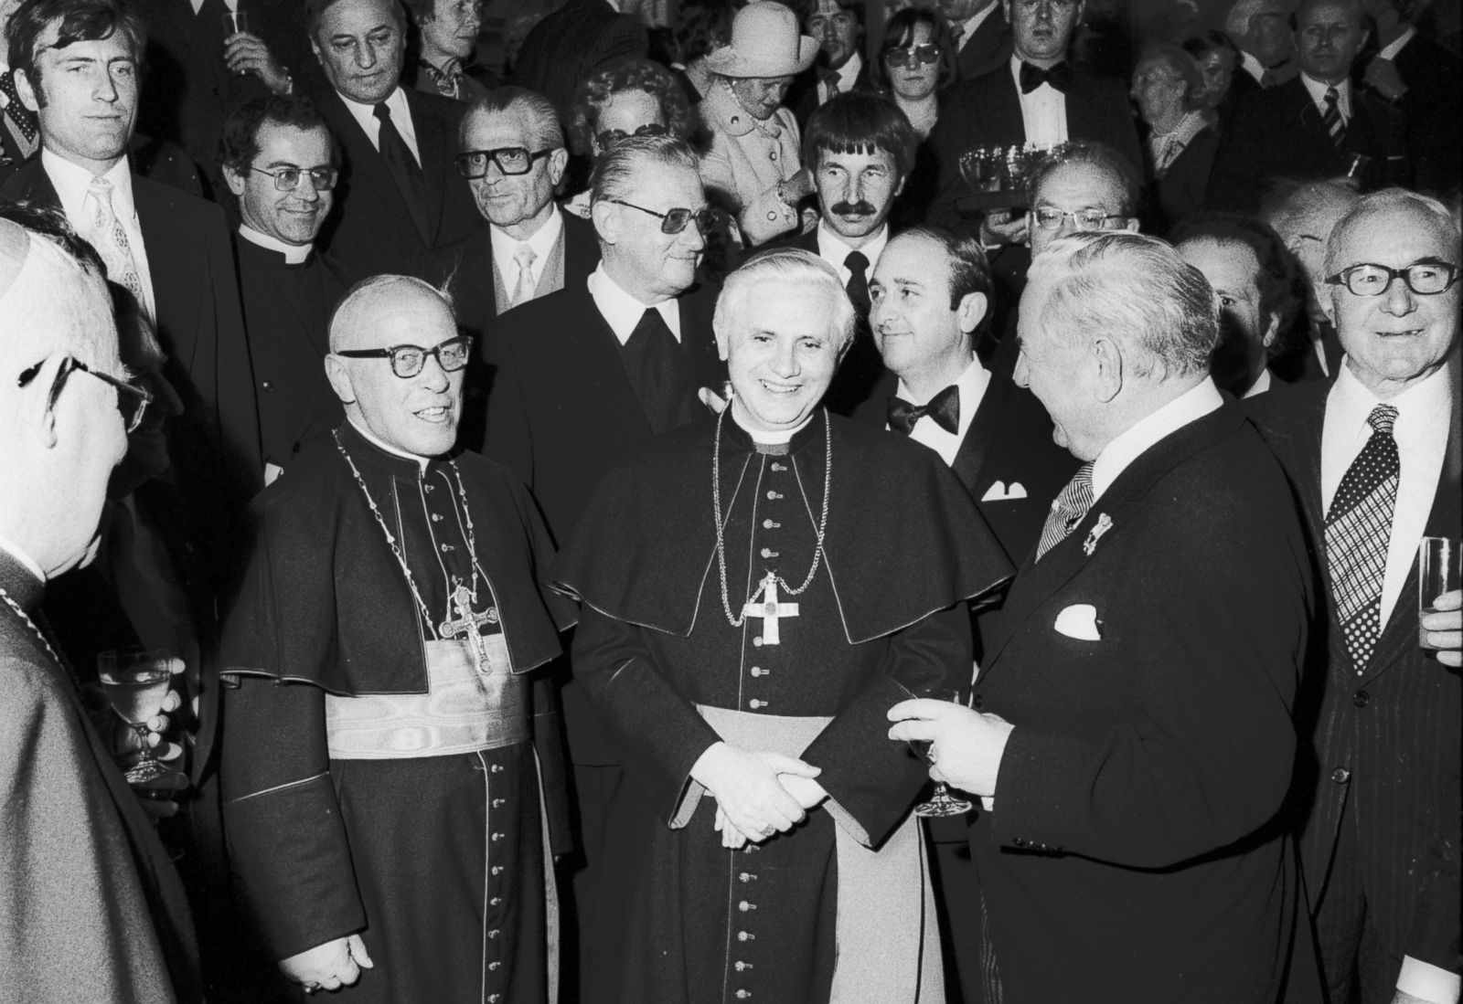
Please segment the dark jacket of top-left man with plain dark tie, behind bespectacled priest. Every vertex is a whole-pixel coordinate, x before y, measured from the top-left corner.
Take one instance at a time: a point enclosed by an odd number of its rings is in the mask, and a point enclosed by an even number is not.
[[[421,153],[430,241],[421,240],[386,162],[341,96],[332,91],[319,102],[320,114],[341,145],[342,164],[338,208],[317,246],[351,275],[423,276],[430,270],[433,250],[467,238],[481,222],[473,193],[452,162],[467,105],[410,88],[404,91]]]

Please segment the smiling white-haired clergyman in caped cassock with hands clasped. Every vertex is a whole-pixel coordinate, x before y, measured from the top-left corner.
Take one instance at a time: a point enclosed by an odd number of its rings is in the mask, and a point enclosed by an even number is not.
[[[732,405],[612,472],[554,566],[635,782],[607,821],[595,1000],[944,1000],[923,764],[884,715],[969,680],[963,601],[1009,566],[936,456],[818,406],[853,330],[809,251],[733,273]]]

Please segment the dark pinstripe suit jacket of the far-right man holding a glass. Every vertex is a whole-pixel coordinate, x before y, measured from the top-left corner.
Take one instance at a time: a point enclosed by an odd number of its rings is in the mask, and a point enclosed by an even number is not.
[[[1418,647],[1418,573],[1407,573],[1371,661],[1358,668],[1336,618],[1321,511],[1321,431],[1331,384],[1255,399],[1257,422],[1299,500],[1324,585],[1302,704],[1314,767],[1296,777],[1301,849],[1311,900],[1324,893],[1336,837],[1355,827],[1368,927],[1394,959],[1410,954],[1459,972],[1460,748],[1463,685]],[[1456,538],[1463,520],[1463,455],[1454,403],[1428,535]],[[1448,891],[1451,887],[1451,891]],[[1451,909],[1440,909],[1451,896]]]

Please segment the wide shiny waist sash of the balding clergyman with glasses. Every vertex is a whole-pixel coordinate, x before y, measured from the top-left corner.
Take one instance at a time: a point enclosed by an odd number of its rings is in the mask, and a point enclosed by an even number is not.
[[[426,694],[326,694],[331,758],[443,757],[527,739],[528,684],[511,672],[502,634],[483,643],[487,663],[478,672],[467,640],[427,642]]]

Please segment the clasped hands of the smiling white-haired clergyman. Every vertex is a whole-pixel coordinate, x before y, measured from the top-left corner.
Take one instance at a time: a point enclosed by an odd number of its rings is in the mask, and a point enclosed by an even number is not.
[[[691,777],[717,799],[714,827],[721,846],[761,843],[787,833],[808,818],[808,810],[828,798],[813,780],[821,767],[765,750],[743,750],[730,742],[707,747]]]

